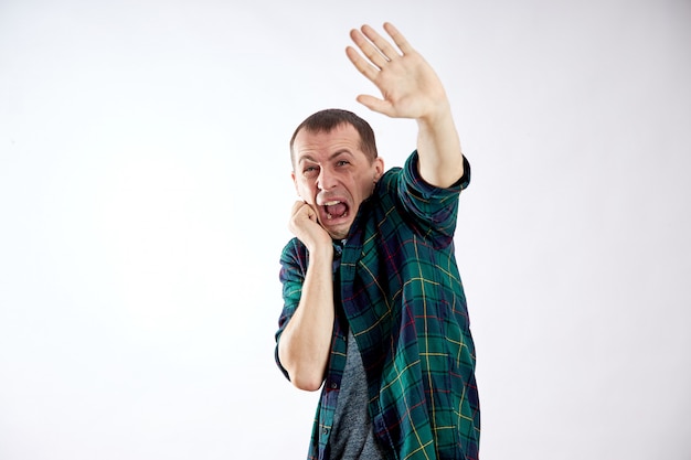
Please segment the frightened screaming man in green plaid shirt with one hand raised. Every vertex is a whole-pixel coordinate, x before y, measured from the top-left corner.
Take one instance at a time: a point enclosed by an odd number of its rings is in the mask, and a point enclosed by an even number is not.
[[[276,360],[322,387],[310,459],[477,459],[475,347],[454,254],[465,160],[444,87],[391,24],[396,50],[353,30],[354,66],[382,93],[368,108],[417,121],[417,149],[384,172],[370,126],[308,117],[290,142],[295,238],[281,255]],[[364,57],[363,57],[364,55]]]

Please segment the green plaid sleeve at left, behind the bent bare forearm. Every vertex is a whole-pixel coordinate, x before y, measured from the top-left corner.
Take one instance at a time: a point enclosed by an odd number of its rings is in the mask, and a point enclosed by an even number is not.
[[[278,359],[278,342],[286,324],[293,318],[295,310],[300,303],[302,284],[307,272],[307,250],[297,238],[293,238],[280,255],[280,271],[278,278],[283,284],[284,308],[278,318],[278,331],[276,332],[276,349],[274,352],[276,364],[286,378],[290,379],[288,372]]]

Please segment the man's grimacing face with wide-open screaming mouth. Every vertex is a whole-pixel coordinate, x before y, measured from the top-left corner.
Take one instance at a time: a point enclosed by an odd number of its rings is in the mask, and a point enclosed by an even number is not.
[[[315,208],[332,238],[344,238],[360,204],[372,194],[383,173],[383,160],[370,161],[360,149],[360,135],[350,124],[329,132],[302,129],[293,150],[293,181],[298,195]]]

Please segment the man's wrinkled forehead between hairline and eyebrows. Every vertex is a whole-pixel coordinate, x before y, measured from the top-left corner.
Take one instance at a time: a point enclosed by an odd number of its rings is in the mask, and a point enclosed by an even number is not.
[[[339,125],[330,131],[308,131],[301,129],[295,137],[293,149],[295,160],[309,156],[329,156],[340,150],[352,153],[360,151],[361,139],[358,130],[350,124]]]

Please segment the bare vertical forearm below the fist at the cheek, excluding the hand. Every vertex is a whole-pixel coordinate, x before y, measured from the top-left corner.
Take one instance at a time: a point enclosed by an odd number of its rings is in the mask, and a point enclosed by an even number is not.
[[[280,363],[300,389],[319,389],[329,361],[334,319],[332,257],[331,246],[310,253],[300,303],[278,343]]]

